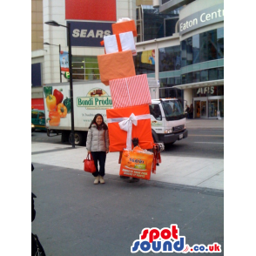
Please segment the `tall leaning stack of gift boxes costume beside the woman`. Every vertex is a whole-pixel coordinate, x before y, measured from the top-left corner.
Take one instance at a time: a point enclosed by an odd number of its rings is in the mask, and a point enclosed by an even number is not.
[[[154,152],[147,76],[136,76],[133,63],[136,25],[122,18],[112,24],[112,31],[102,42],[105,54],[98,56],[101,82],[110,86],[113,104],[113,109],[106,110],[110,152],[121,152],[121,176],[150,179],[160,158]]]

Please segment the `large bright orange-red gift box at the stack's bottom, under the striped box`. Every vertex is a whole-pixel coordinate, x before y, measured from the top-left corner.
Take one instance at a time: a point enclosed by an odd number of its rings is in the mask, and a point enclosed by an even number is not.
[[[107,123],[109,128],[110,152],[122,152],[126,148],[128,132],[121,130],[119,123],[134,114],[138,118],[138,123],[132,125],[131,138],[138,138],[138,145],[142,149],[153,148],[152,125],[149,105],[131,106],[119,109],[106,110]],[[142,115],[149,115],[148,118],[139,119]],[[133,145],[131,144],[133,147]]]

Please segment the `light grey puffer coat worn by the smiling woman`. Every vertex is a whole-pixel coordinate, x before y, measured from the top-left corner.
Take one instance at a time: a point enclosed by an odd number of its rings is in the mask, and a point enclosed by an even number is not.
[[[106,152],[109,151],[109,131],[104,130],[101,126],[97,129],[97,125],[91,125],[87,134],[86,149],[91,152]]]

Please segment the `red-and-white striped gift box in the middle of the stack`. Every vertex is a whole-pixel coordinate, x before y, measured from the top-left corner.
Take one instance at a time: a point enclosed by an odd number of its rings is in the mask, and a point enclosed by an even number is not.
[[[147,76],[139,75],[110,80],[113,107],[152,104]]]

